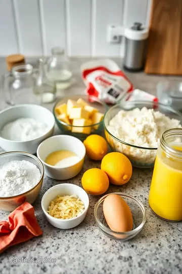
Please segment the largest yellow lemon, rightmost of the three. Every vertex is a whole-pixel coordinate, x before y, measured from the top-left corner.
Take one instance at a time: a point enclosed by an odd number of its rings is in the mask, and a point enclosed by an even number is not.
[[[132,175],[131,162],[120,152],[111,152],[104,156],[101,169],[107,174],[110,183],[114,185],[126,184]]]

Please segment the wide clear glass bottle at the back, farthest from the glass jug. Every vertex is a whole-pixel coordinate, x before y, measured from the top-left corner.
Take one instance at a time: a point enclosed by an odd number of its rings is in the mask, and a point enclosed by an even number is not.
[[[47,78],[56,82],[58,89],[65,89],[71,85],[70,61],[61,47],[52,49],[52,56],[47,61]]]

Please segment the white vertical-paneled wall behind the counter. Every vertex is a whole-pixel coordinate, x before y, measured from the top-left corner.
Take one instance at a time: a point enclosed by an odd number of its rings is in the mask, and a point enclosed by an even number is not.
[[[63,46],[70,56],[121,56],[108,44],[107,26],[148,26],[152,0],[0,0],[0,56],[49,55]]]

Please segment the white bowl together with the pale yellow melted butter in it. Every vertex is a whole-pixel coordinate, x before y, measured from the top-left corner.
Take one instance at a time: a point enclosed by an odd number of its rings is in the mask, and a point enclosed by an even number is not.
[[[67,180],[81,171],[85,147],[73,136],[56,135],[38,146],[37,157],[42,161],[47,176],[55,180]]]

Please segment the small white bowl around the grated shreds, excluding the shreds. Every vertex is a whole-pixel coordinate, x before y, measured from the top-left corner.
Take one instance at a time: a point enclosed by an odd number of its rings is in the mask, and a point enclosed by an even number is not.
[[[85,209],[80,216],[77,216],[72,219],[61,220],[58,218],[54,218],[48,214],[47,210],[50,205],[50,202],[53,199],[55,199],[57,195],[64,196],[64,195],[73,195],[73,194],[76,194],[80,198],[80,200],[84,203]],[[89,198],[86,192],[84,191],[84,189],[73,184],[60,184],[60,185],[51,187],[44,193],[41,199],[41,208],[43,210],[43,213],[45,214],[45,217],[50,222],[50,224],[61,229],[69,229],[79,225],[86,216],[88,205],[89,205]]]

